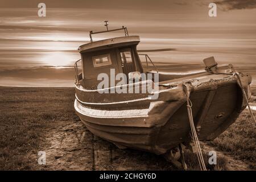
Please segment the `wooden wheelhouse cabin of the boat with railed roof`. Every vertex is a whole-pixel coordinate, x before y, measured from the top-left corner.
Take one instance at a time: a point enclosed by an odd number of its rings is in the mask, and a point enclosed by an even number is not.
[[[127,32],[126,27],[116,30]],[[109,30],[103,32],[109,32]],[[131,72],[143,73],[141,60],[137,53],[139,36],[129,36],[126,33],[122,37],[93,42],[92,34],[98,33],[101,32],[90,31],[91,42],[79,47],[82,73],[78,73],[76,62],[77,83],[86,89],[96,89],[98,83],[101,82],[97,80],[97,76],[100,73],[106,73],[110,77],[110,69],[114,69],[115,75],[124,73],[127,78]]]

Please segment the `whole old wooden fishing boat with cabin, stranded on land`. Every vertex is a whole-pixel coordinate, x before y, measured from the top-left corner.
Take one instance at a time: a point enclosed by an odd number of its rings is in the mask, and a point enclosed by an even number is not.
[[[79,47],[81,60],[75,63],[75,110],[94,135],[121,148],[166,154],[181,143],[191,145],[195,138],[213,140],[245,109],[246,99],[250,98],[250,75],[237,73],[232,65],[218,67],[213,57],[204,60],[205,71],[200,73],[179,78],[159,73],[156,68],[142,67],[137,52],[139,36],[129,36],[126,27],[116,30],[123,30],[125,36],[96,42],[93,34],[115,30],[107,27],[106,31],[90,31],[90,43]],[[149,56],[144,56],[152,63]],[[110,86],[99,89],[102,80],[97,79],[98,75],[111,77],[111,70],[114,76],[123,73],[130,81],[116,85],[118,81],[111,83],[109,79]],[[142,80],[143,73],[154,73],[158,78]],[[150,83],[158,85],[158,90],[112,92],[129,86],[141,89]]]

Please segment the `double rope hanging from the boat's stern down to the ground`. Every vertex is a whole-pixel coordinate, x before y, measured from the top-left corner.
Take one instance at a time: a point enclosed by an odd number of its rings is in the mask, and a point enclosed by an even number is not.
[[[207,168],[205,167],[204,158],[203,158],[203,154],[201,151],[199,139],[196,134],[196,129],[195,129],[194,121],[193,121],[193,114],[192,114],[192,102],[189,98],[189,89],[186,84],[185,84],[185,91],[186,91],[185,95],[187,97],[188,119],[189,119],[189,124],[191,127],[192,139],[193,139],[193,142],[195,143],[195,147],[196,147],[197,159],[199,161],[199,166],[200,166],[201,171],[207,171]]]

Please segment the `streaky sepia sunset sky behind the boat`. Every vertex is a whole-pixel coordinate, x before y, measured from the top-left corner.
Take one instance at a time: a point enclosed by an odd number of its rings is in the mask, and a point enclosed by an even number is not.
[[[46,17],[38,16],[40,2]],[[217,17],[208,15],[210,2]],[[138,49],[170,49],[148,55],[171,72],[180,71],[171,65],[197,65],[209,56],[253,72],[255,17],[256,0],[1,0],[0,85],[73,86],[77,48],[89,42],[90,30],[105,30],[104,20],[110,29],[126,26],[129,35],[139,35]],[[122,34],[93,39],[115,36]]]

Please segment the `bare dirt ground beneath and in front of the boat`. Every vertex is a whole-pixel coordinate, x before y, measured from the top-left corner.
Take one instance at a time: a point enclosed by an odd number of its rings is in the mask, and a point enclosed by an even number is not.
[[[216,151],[201,143],[204,152]],[[46,165],[35,163],[43,170],[176,170],[163,156],[130,149],[119,149],[114,144],[94,136],[79,121],[52,123],[40,144],[46,152]],[[249,165],[221,151],[228,170],[249,170]]]

